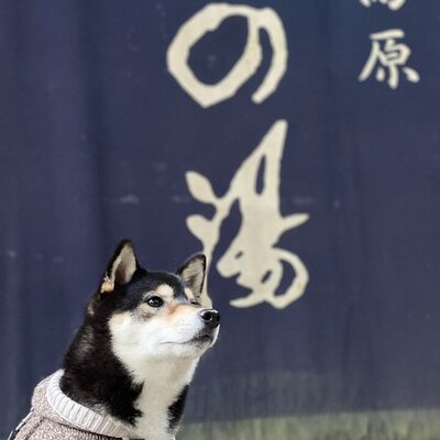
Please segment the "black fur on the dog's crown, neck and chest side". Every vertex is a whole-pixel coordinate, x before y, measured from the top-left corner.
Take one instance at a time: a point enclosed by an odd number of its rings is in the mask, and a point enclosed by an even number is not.
[[[130,283],[116,287],[111,294],[95,294],[89,301],[94,314],[87,314],[65,358],[61,383],[63,393],[72,399],[94,407],[103,407],[111,416],[135,425],[142,413],[134,404],[143,384],[133,378],[111,350],[109,319],[118,311],[134,309],[145,292],[167,283],[175,296],[185,300],[184,284],[179,277],[165,272],[148,273],[138,267]],[[186,298],[187,300],[187,298]],[[185,405],[186,386],[168,408],[169,428],[173,430]]]

